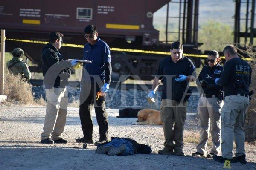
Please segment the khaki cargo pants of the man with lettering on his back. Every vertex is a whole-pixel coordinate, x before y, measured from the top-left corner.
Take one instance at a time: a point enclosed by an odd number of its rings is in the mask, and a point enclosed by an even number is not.
[[[245,154],[244,122],[249,98],[240,95],[226,96],[221,109],[221,151],[222,156],[232,159],[233,137],[236,142],[236,156]]]

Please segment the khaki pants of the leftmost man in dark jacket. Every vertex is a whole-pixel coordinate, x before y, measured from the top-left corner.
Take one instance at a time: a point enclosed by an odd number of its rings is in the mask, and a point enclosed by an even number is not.
[[[66,88],[45,89],[46,92],[46,115],[44,120],[44,132],[42,140],[52,138],[58,140],[64,131],[67,117],[68,96]]]

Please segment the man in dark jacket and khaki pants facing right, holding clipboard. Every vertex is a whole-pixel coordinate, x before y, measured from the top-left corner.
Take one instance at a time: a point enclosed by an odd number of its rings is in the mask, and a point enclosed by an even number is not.
[[[49,43],[42,50],[42,71],[46,92],[47,106],[44,120],[44,132],[41,143],[67,143],[61,138],[67,116],[67,79],[70,77],[70,66],[77,60],[64,61],[58,49],[61,48],[63,34],[50,32]]]

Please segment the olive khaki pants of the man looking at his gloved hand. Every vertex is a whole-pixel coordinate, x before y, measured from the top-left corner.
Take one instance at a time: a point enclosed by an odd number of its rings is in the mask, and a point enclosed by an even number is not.
[[[178,106],[179,105],[179,106]],[[163,121],[164,146],[173,147],[175,152],[183,148],[183,130],[186,120],[186,105],[175,100],[163,99],[160,106],[160,115]],[[174,124],[174,128],[172,130]],[[175,142],[175,144],[173,144]]]

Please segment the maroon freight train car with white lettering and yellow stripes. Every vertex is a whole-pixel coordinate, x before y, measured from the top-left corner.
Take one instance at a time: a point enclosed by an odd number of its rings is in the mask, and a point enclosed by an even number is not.
[[[172,8],[174,3],[179,5],[178,9]],[[166,40],[160,42],[159,31],[153,26],[153,15],[163,6],[168,9]],[[41,72],[43,44],[37,41],[48,41],[49,32],[59,31],[64,34],[64,43],[85,44],[84,27],[94,24],[102,40],[111,48],[120,49],[111,52],[113,81],[120,81],[120,75],[126,75],[125,78],[139,75],[140,79],[151,80],[159,61],[166,55],[133,50],[169,52],[172,41],[168,35],[175,33],[178,35],[176,40],[184,44],[184,52],[199,54],[198,6],[199,0],[26,0],[15,3],[1,0],[0,28],[6,29],[7,39],[35,42],[6,40],[6,51],[15,47],[24,49],[25,55],[37,64],[30,70]],[[177,32],[168,29],[169,20],[174,18],[169,16],[169,9],[177,10]],[[63,46],[61,53],[65,59],[82,58],[82,48]]]

